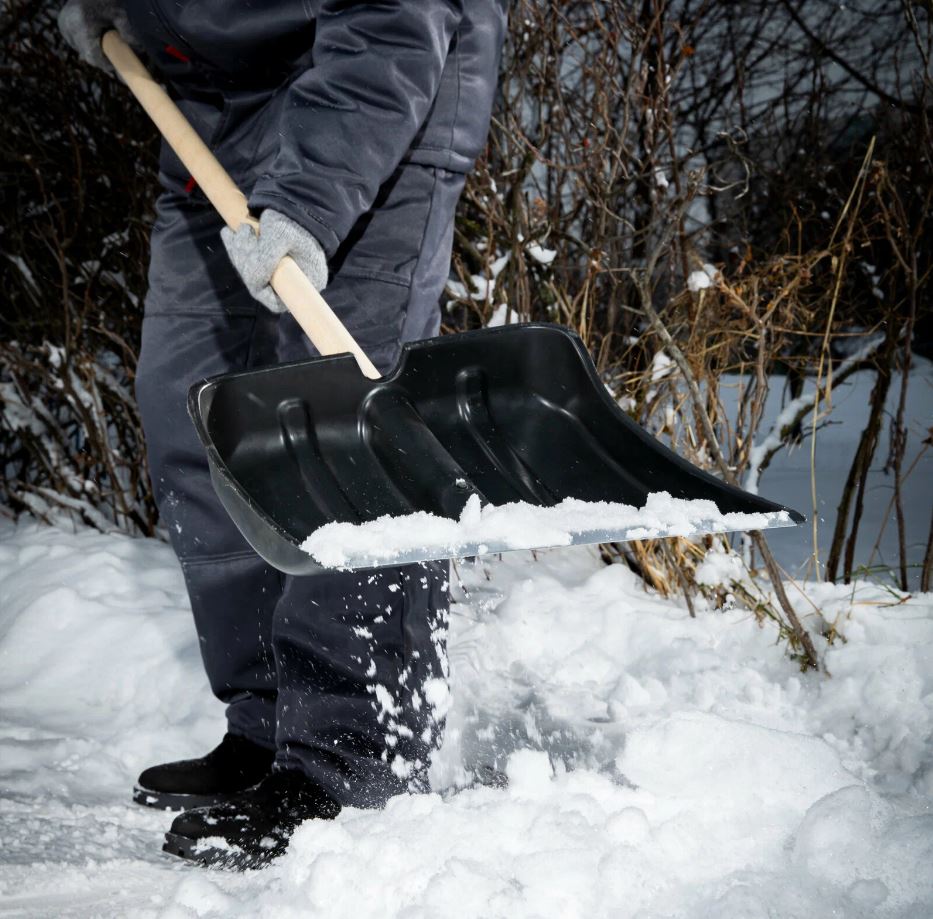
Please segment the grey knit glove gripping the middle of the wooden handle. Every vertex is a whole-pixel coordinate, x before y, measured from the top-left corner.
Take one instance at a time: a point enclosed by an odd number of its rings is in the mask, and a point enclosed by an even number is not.
[[[233,230],[224,227],[220,237],[246,289],[273,313],[284,313],[285,304],[269,286],[279,262],[290,255],[308,276],[315,290],[327,286],[327,256],[304,228],[278,211],[266,208],[259,218],[257,236],[248,223]]]

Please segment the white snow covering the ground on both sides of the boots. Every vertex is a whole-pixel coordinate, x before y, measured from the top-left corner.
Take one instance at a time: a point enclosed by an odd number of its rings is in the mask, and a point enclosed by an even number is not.
[[[646,594],[586,548],[458,565],[436,787],[247,875],[162,856],[135,776],[219,739],[167,546],[0,522],[0,915],[926,917],[933,596],[791,587],[841,636]]]

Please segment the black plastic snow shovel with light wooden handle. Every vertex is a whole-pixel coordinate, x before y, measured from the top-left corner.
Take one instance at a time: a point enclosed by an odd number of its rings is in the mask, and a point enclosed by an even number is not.
[[[244,195],[136,55],[115,32],[104,36],[103,48],[227,225],[255,225]],[[705,501],[692,519],[695,532],[803,520],[724,484],[642,430],[566,328],[532,323],[408,343],[380,377],[290,258],[272,287],[322,357],[197,383],[189,411],[221,502],[259,555],[281,571],[320,570],[302,542],[321,527],[386,515],[416,515],[398,529],[422,528],[424,544],[382,554],[351,551],[341,559],[344,567],[686,535],[682,521],[646,527],[637,514],[627,519],[606,505],[565,499],[612,502],[616,511],[620,504],[642,508],[656,492]],[[499,507],[514,502],[525,506]],[[512,519],[524,514],[531,523],[518,537],[507,526],[491,538],[474,527],[475,538],[431,542],[436,518],[453,524],[465,508],[480,505]],[[554,510],[563,519],[568,505],[576,522],[566,538],[527,516],[529,509]]]

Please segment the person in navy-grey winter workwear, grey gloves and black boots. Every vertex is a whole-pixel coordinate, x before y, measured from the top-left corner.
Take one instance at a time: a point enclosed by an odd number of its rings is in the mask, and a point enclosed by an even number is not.
[[[117,28],[259,216],[230,233],[163,144],[136,394],[161,520],[227,733],[146,769],[165,849],[263,864],[302,821],[426,787],[446,708],[447,566],[290,577],[229,521],[186,417],[205,377],[316,352],[269,279],[290,254],[381,372],[436,335],[454,212],[485,144],[506,0],[68,0]]]

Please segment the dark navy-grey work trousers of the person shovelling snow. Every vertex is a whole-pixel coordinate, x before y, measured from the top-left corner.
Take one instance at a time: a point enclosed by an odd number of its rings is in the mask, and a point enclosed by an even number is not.
[[[331,260],[326,298],[383,372],[437,334],[461,174],[403,165]],[[159,199],[136,391],[162,521],[229,729],[345,805],[423,787],[447,698],[447,565],[281,574],[228,519],[187,417],[205,377],[316,354],[254,301],[197,191]]]

